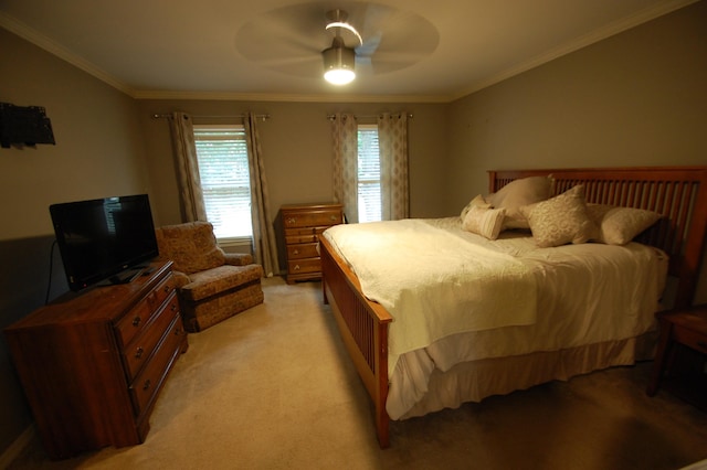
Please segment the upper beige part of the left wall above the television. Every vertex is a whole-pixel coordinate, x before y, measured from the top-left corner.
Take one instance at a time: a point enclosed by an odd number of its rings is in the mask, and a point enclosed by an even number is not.
[[[148,192],[137,105],[0,29],[0,102],[43,106],[56,146],[0,149],[0,239],[53,233],[49,205]],[[12,221],[12,223],[8,223]]]

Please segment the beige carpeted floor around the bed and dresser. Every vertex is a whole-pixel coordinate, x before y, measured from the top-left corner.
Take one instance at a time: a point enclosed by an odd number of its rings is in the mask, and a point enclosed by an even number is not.
[[[264,281],[265,303],[190,335],[145,444],[11,469],[678,469],[707,459],[707,415],[661,392],[651,363],[391,423],[370,399],[320,284]]]

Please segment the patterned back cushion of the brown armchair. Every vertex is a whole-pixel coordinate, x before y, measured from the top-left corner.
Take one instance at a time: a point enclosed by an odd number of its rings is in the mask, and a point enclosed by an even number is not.
[[[191,275],[225,263],[209,222],[165,225],[157,228],[155,235],[160,259],[171,259],[176,271]]]

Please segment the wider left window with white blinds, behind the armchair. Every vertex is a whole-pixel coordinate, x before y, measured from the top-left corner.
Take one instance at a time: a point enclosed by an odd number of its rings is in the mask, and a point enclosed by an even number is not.
[[[251,178],[242,125],[194,125],[207,218],[218,239],[253,236]]]

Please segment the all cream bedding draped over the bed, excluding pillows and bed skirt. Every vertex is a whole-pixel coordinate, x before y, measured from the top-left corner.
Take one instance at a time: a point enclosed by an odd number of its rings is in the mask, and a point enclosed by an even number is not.
[[[650,331],[667,270],[666,256],[641,244],[537,248],[532,237],[514,233],[489,242],[463,231],[458,217],[339,225],[325,236],[352,266],[363,293],[394,318],[387,402],[392,419],[426,393],[434,368]],[[505,282],[489,266],[493,260],[510,274]],[[382,276],[373,273],[380,265]],[[494,280],[487,284],[485,275],[465,270],[477,266]],[[461,268],[463,275],[449,268]],[[432,293],[432,285],[440,281],[443,290]],[[456,301],[456,295],[469,292],[473,300]],[[454,308],[457,303],[461,309]],[[409,310],[414,313],[409,316]],[[433,324],[431,318],[444,322],[447,317],[455,320],[442,329],[433,325],[432,332],[420,331]],[[461,330],[449,329],[460,324]],[[407,338],[411,331],[413,340]]]

